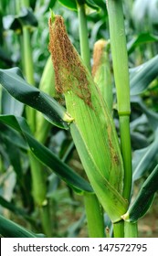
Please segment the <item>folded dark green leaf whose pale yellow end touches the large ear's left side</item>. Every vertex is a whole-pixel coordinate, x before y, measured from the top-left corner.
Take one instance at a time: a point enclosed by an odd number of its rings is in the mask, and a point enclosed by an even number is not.
[[[66,110],[45,92],[30,86],[24,80],[20,69],[0,69],[0,83],[17,101],[42,112],[50,123],[68,129],[68,123],[72,119]]]

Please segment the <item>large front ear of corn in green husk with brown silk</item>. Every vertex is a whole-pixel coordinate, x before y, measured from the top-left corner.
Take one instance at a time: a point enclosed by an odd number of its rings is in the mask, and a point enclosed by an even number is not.
[[[56,88],[64,93],[68,113],[74,118],[70,124],[73,140],[102,206],[118,221],[126,202],[121,197],[123,165],[110,111],[71,45],[61,16],[53,16],[53,22],[49,19],[49,33]]]

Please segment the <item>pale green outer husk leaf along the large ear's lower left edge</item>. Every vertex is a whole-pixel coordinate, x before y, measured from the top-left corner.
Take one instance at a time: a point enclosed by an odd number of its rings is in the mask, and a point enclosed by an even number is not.
[[[127,201],[121,197],[118,191],[111,186],[110,182],[100,174],[100,170],[96,166],[92,155],[90,155],[87,144],[79,133],[77,126],[72,123],[70,129],[80,159],[90,179],[90,184],[94,188],[102,207],[110,216],[112,222],[121,220],[121,213],[125,212]]]

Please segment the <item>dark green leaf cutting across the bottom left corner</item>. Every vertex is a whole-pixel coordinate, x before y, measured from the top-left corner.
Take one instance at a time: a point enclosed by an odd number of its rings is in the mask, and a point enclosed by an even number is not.
[[[0,234],[5,238],[37,238],[37,235],[28,231],[15,222],[0,215]]]

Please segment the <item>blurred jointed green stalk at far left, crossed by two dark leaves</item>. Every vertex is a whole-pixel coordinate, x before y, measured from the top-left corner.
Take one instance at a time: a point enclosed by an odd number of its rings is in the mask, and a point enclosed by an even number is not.
[[[21,5],[29,7],[29,0],[23,0]],[[26,80],[28,83],[35,86],[30,28],[26,26],[23,26],[23,59]],[[31,131],[34,134],[36,134],[37,130],[36,115],[36,110],[26,106],[27,123],[29,124]],[[41,165],[37,158],[35,158],[35,156],[31,153],[29,153],[29,161],[33,183],[33,197],[37,204],[37,207],[39,208],[42,228],[47,237],[51,237],[52,230],[50,226],[49,205],[48,203],[46,203],[47,185],[43,165]]]

